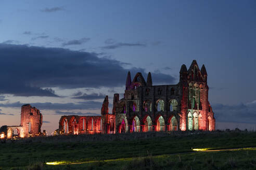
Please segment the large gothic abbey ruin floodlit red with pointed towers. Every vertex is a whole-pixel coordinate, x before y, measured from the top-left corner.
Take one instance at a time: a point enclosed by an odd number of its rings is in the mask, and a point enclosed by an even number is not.
[[[194,60],[189,69],[182,65],[180,82],[152,86],[141,73],[126,78],[124,98],[114,94],[112,114],[108,96],[101,116],[62,116],[59,134],[125,133],[151,131],[214,131],[215,118],[208,101],[207,72]]]

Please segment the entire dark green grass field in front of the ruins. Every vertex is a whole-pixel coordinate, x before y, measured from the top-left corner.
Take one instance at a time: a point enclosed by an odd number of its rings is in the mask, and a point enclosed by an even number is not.
[[[255,146],[240,131],[36,137],[2,141],[0,169],[256,169],[255,149],[193,152]]]

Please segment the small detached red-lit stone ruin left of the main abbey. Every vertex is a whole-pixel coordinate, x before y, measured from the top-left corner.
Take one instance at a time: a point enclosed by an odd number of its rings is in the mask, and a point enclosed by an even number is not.
[[[31,107],[29,104],[21,107],[21,121],[19,126],[7,126],[4,125],[0,128],[1,139],[12,139],[14,137],[28,137],[37,136],[41,134],[41,126],[43,123],[43,116],[40,110]],[[18,135],[14,136],[14,131],[17,131]]]

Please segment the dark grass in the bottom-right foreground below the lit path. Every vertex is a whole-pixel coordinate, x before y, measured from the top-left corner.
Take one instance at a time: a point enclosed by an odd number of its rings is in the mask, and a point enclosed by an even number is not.
[[[43,166],[43,169],[256,169],[256,150],[149,156],[130,161]]]

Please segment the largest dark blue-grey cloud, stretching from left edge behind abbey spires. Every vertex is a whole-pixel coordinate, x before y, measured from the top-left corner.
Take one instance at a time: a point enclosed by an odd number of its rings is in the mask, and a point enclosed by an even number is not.
[[[143,68],[129,70],[133,76],[137,72],[147,75]],[[57,96],[51,88],[122,87],[129,70],[117,60],[99,58],[97,53],[0,44],[0,94]],[[155,84],[175,79],[152,73],[152,80]]]

